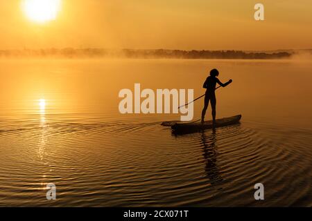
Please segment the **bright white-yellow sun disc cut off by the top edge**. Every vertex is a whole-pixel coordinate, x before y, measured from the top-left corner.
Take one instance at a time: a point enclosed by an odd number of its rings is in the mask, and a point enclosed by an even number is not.
[[[55,20],[60,11],[61,0],[22,0],[21,8],[26,17],[37,23]]]

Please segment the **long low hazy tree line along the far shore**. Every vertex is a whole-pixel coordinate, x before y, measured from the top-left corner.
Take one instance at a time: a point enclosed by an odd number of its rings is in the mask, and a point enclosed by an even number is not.
[[[245,52],[242,50],[107,50],[103,48],[49,48],[0,50],[0,57],[64,57],[64,58],[101,58],[121,57],[134,59],[286,59],[292,52]]]

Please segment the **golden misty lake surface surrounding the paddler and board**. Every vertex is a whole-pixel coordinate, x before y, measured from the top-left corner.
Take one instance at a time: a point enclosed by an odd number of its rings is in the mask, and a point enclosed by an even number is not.
[[[180,115],[118,111],[119,90],[135,83],[202,95],[211,68],[233,79],[216,92],[217,117],[241,124],[175,136],[160,123]],[[312,206],[311,61],[1,60],[0,70],[0,206]]]

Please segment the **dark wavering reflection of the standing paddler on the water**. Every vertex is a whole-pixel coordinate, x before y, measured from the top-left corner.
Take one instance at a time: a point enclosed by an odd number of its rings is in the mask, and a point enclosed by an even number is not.
[[[220,171],[217,164],[218,152],[216,151],[216,129],[213,129],[211,134],[208,131],[202,132],[201,135],[202,146],[205,157],[205,171],[211,184],[218,184],[223,181],[220,176]]]

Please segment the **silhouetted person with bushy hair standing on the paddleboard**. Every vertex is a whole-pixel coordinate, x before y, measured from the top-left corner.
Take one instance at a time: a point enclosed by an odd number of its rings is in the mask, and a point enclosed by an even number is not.
[[[202,109],[202,124],[205,122],[205,115],[206,111],[209,105],[209,101],[211,103],[211,109],[212,109],[212,125],[214,126],[216,124],[216,83],[218,83],[220,86],[227,86],[228,84],[232,83],[232,79],[227,81],[227,83],[223,84],[217,77],[219,75],[219,72],[217,69],[212,69],[210,71],[210,76],[207,77],[203,88],[206,88],[206,93],[205,93],[205,104],[204,108]]]

